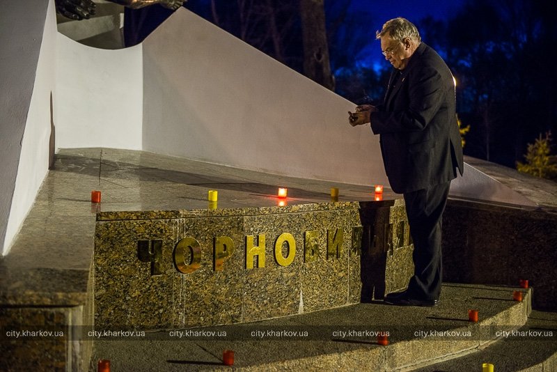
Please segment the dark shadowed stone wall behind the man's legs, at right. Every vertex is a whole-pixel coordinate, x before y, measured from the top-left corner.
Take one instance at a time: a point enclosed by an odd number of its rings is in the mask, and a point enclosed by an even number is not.
[[[557,210],[449,201],[443,222],[444,279],[535,288],[535,309],[557,310]]]

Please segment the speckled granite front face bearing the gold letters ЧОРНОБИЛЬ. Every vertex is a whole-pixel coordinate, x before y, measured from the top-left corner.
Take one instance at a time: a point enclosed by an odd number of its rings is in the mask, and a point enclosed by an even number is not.
[[[354,304],[361,300],[361,220],[366,213],[386,216],[385,226],[404,225],[404,207],[393,201],[324,203],[288,207],[176,212],[100,214],[95,233],[95,325],[97,327],[184,327],[243,323]],[[338,208],[338,209],[336,209]],[[389,217],[393,211],[394,217]],[[181,216],[173,219],[147,217]],[[120,219],[121,217],[131,219]],[[111,217],[111,219],[109,219]],[[391,224],[389,224],[391,222]],[[392,230],[392,228],[391,228]],[[283,242],[283,234],[291,241]],[[408,247],[387,231],[381,254],[386,267],[372,268],[388,288],[405,286],[410,261],[396,254]],[[223,270],[214,270],[214,240],[228,237],[233,254]],[[184,238],[194,238],[201,250],[199,268],[179,272],[174,251]],[[282,242],[276,250],[277,240]],[[252,242],[248,242],[251,239]],[[162,242],[159,274],[141,261],[138,242]],[[248,259],[248,245],[265,240],[265,258]],[[317,247],[315,256],[313,242]],[[338,251],[336,245],[338,244]],[[396,247],[395,247],[396,245]],[[329,251],[335,249],[334,251]],[[366,251],[366,248],[363,249]],[[404,249],[402,249],[404,250]],[[313,251],[312,251],[313,252]],[[261,257],[261,253],[258,257]],[[276,257],[291,258],[278,263]],[[312,259],[313,258],[313,259]],[[191,262],[188,253],[186,264]],[[253,261],[253,268],[247,268]],[[264,264],[263,264],[264,262]],[[382,271],[381,271],[382,270]],[[394,283],[394,284],[393,284]],[[383,284],[383,286],[385,286]]]

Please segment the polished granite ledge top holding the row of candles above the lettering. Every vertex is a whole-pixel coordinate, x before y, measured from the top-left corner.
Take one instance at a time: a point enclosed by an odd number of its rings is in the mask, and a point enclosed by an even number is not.
[[[350,209],[354,200],[373,198],[368,187],[230,169],[139,151],[60,150],[10,253],[0,258],[0,323],[23,325],[22,313],[60,313],[65,314],[63,323],[93,325],[91,265],[98,212],[118,218],[122,211],[126,217],[131,216],[129,211],[139,211],[138,215],[150,215],[147,211],[155,209],[199,211],[207,208],[207,189],[219,189],[219,208],[262,207],[274,212],[278,210],[274,196],[278,185],[289,187],[286,208],[291,211],[327,210],[330,187],[340,187],[337,208]],[[93,189],[102,190],[102,203],[91,203]],[[394,202],[388,189],[384,196],[384,203]],[[208,216],[227,212],[198,213]],[[35,318],[28,319],[31,322]],[[29,368],[40,365],[41,369],[80,370],[80,363],[88,360],[91,352],[88,341],[61,341],[52,349],[56,357],[50,358],[36,353],[35,341],[1,341],[8,355],[18,360],[28,356],[25,366]],[[8,364],[10,368],[24,367],[15,359]]]

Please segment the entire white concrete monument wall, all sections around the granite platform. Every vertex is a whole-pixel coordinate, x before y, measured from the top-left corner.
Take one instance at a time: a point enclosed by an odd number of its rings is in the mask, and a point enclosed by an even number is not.
[[[3,5],[2,254],[47,173],[52,117],[57,148],[148,150],[288,176],[389,184],[378,138],[368,126],[347,124],[354,104],[184,8],[143,45],[103,50],[56,33],[53,0],[42,8]],[[39,43],[32,25],[45,12]],[[533,205],[471,166],[451,194]]]

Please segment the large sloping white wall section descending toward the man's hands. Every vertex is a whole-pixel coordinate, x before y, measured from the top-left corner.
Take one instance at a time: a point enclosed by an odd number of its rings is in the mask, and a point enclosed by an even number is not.
[[[344,183],[387,185],[354,104],[180,8],[143,42],[143,150]]]

